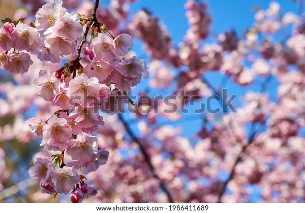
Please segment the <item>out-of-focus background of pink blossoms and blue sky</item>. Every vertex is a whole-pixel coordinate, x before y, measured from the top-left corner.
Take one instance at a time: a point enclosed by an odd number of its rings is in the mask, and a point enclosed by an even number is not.
[[[63,3],[80,14],[90,14],[93,6]],[[1,0],[0,18],[27,17],[29,23],[43,4]],[[133,94],[184,89],[201,100],[194,106],[185,101],[189,113],[103,114],[106,124],[97,136],[110,157],[88,176],[100,191],[86,201],[168,202],[172,196],[178,202],[303,202],[303,8],[302,0],[101,0],[100,22],[112,34],[130,33],[131,51],[150,67],[150,77]],[[52,112],[32,84],[44,65],[37,59],[24,75],[0,70],[0,202],[70,200],[41,194],[28,176],[33,159],[45,154],[25,121]],[[222,88],[228,97],[237,95],[237,113],[194,113],[208,95],[222,95]]]

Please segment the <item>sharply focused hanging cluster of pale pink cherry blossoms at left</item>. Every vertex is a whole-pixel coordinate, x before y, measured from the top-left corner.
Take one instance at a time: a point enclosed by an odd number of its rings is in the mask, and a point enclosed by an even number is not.
[[[107,35],[95,16],[69,13],[60,0],[43,5],[31,25],[9,21],[0,30],[1,65],[11,73],[26,73],[33,64],[30,55],[51,63],[72,59],[55,72],[41,69],[34,79],[40,96],[58,110],[47,120],[36,116],[27,121],[44,151],[55,152],[52,160],[37,157],[29,175],[42,193],[72,191],[72,202],[95,196],[98,188],[88,186],[85,175],[109,157],[94,135],[104,125],[99,109],[113,114],[105,105],[117,104],[116,96],[148,77],[145,61],[127,55],[131,36]]]

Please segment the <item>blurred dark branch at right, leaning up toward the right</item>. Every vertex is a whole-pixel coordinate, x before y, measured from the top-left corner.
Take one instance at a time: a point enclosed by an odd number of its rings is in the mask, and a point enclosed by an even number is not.
[[[262,94],[264,91],[266,91],[267,85],[268,85],[269,81],[271,80],[271,77],[272,77],[272,76],[269,75],[269,76],[265,79],[265,81],[262,83],[261,90],[260,90],[260,94]],[[261,97],[261,96],[260,96],[260,97]],[[258,102],[257,102],[257,107],[256,107],[256,109],[258,109],[258,108],[260,108],[260,98],[259,98],[259,100],[258,100]],[[262,124],[260,125],[260,127],[264,126],[265,123],[266,123],[266,119],[263,120],[263,122],[262,122]],[[250,131],[249,131],[250,135],[249,135],[247,144],[242,146],[241,151],[240,151],[239,155],[237,156],[237,158],[236,158],[236,160],[235,160],[235,162],[234,162],[234,164],[233,164],[233,167],[232,167],[232,169],[231,169],[231,171],[230,171],[229,177],[228,177],[228,179],[224,182],[224,185],[223,185],[223,187],[222,187],[222,191],[220,192],[219,197],[218,197],[218,202],[221,202],[221,199],[222,199],[222,197],[223,197],[223,195],[224,195],[224,193],[225,193],[225,191],[226,191],[226,189],[227,189],[228,184],[230,183],[230,181],[233,180],[234,174],[235,174],[235,169],[236,169],[237,164],[240,163],[240,162],[242,161],[242,157],[243,157],[243,155],[245,154],[247,148],[253,143],[254,139],[256,138],[257,133],[258,133],[258,132],[260,131],[260,129],[261,129],[261,128],[258,128],[258,129],[256,129],[256,131],[253,131],[253,128],[254,128],[254,122],[252,122],[252,125],[251,125],[251,127],[250,127]],[[251,132],[252,132],[252,133],[251,133]]]

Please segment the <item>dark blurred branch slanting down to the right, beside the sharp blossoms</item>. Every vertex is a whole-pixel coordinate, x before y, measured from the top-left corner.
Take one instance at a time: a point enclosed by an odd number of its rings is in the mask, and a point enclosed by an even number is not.
[[[158,174],[156,173],[155,167],[153,166],[153,164],[150,161],[149,155],[146,152],[145,148],[142,146],[141,141],[139,140],[138,137],[136,137],[136,135],[133,133],[133,131],[131,130],[131,128],[129,127],[128,123],[125,121],[125,119],[123,118],[123,116],[121,114],[118,114],[118,119],[123,123],[126,131],[128,132],[128,134],[130,135],[131,139],[139,146],[145,161],[147,162],[149,169],[151,171],[151,173],[153,173],[153,176],[158,179],[159,181],[159,186],[160,188],[163,190],[163,192],[166,194],[169,202],[173,203],[174,199],[169,191],[169,189],[167,188],[166,184],[164,184],[160,177],[158,176]]]

